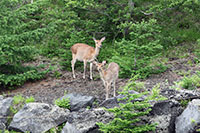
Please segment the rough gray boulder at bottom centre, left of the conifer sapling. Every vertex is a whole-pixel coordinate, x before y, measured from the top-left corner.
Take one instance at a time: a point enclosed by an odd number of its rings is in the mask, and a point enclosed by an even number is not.
[[[108,123],[112,119],[113,114],[103,108],[72,112],[69,116],[70,124],[66,123],[68,126],[65,126],[62,133],[69,133],[69,131],[72,131],[72,133],[73,131],[77,131],[76,133],[98,133],[96,123]]]

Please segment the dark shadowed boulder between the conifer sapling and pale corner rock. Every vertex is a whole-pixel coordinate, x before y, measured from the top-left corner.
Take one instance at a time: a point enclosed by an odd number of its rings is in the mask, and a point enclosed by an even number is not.
[[[150,112],[150,122],[157,123],[156,132],[175,133],[175,120],[183,108],[176,100],[156,102]]]

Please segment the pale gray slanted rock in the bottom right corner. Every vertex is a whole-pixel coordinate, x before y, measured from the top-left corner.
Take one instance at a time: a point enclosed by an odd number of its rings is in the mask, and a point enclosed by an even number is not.
[[[200,99],[189,102],[183,113],[176,118],[176,133],[192,133],[200,124]]]

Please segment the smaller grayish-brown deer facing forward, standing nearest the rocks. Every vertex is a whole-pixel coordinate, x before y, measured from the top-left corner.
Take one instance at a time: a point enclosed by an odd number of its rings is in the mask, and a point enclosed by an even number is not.
[[[97,66],[97,70],[100,73],[101,80],[103,81],[103,84],[106,89],[106,100],[109,97],[109,92],[111,88],[111,84],[113,85],[114,88],[114,94],[113,96],[116,96],[115,92],[115,82],[118,78],[119,75],[119,65],[117,63],[111,62],[107,69],[104,69],[104,65],[106,64],[106,61],[103,61],[102,63],[97,63],[96,61],[94,64]]]

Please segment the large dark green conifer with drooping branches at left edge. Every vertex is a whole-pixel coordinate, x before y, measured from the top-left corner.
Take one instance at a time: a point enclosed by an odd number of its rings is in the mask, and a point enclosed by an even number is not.
[[[35,44],[54,31],[55,25],[46,24],[39,16],[47,3],[48,0],[35,0],[33,4],[19,0],[0,2],[1,87],[22,85],[27,80],[41,79],[46,74],[46,71],[24,67],[22,63],[33,60],[38,53]]]

